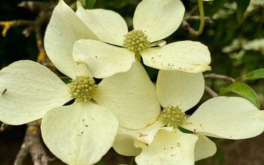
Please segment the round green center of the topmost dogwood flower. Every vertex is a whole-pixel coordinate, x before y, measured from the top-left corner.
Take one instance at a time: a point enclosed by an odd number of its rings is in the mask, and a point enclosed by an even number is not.
[[[141,51],[150,47],[148,36],[142,30],[132,30],[125,36],[123,45],[131,51]]]

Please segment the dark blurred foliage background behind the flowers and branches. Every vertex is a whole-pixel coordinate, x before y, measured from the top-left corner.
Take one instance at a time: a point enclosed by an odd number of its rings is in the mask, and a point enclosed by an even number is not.
[[[2,0],[0,2],[0,21],[35,19],[35,13],[17,6],[20,2],[22,0]],[[140,0],[82,0],[82,4],[87,9],[103,8],[118,12],[126,20],[129,30],[133,29],[133,15],[139,2]],[[182,0],[182,2],[186,8],[185,14],[192,11],[193,16],[199,15],[197,0]],[[75,4],[72,4],[71,7],[74,9]],[[211,52],[212,70],[204,74],[216,73],[237,78],[255,69],[264,68],[264,0],[215,0],[204,2],[204,12],[205,16],[211,17],[214,23],[206,23],[202,35],[195,36],[183,27],[179,27],[178,30],[165,39],[167,44],[180,40],[193,40],[207,45]],[[199,20],[188,20],[188,23],[193,29],[199,29]],[[27,38],[24,37],[21,33],[24,28],[25,26],[13,27],[8,31],[6,37],[0,36],[0,68],[18,60],[36,61],[38,48],[35,35],[32,33]],[[45,28],[46,24],[42,28],[43,36]],[[152,81],[155,82],[158,70],[147,66],[145,68]],[[230,82],[207,78],[206,84],[218,93],[221,87],[227,87]],[[260,108],[263,109],[263,80],[247,81],[247,84],[257,94]],[[229,95],[233,96],[235,94],[231,93]],[[205,93],[201,102],[208,100],[210,97]],[[25,128],[24,125],[9,126],[7,131],[0,134],[0,160],[2,165],[13,164],[16,153],[23,141]],[[218,146],[217,153],[211,158],[196,162],[196,164],[264,164],[264,158],[261,156],[264,153],[264,143],[261,137],[263,138],[264,135],[237,141],[211,138]],[[51,155],[51,153],[49,154]],[[132,157],[120,156],[110,150],[97,165],[129,164],[131,159]],[[25,164],[31,164],[30,157]],[[57,159],[50,164],[63,163]]]

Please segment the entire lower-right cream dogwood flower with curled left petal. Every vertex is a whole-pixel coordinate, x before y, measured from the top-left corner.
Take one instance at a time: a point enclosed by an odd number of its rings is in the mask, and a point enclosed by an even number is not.
[[[163,107],[160,120],[142,130],[119,128],[113,145],[119,154],[136,156],[138,165],[193,165],[194,161],[216,152],[214,142],[206,136],[246,139],[264,130],[264,111],[240,97],[212,98],[186,116],[185,111],[195,106],[203,95],[201,73],[160,71],[156,88]],[[183,133],[178,127],[193,134]],[[126,147],[122,148],[125,142]]]

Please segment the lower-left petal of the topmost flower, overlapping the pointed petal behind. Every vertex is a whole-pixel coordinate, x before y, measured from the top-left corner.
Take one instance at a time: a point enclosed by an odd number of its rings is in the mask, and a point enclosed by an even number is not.
[[[105,78],[127,72],[135,62],[135,52],[95,40],[78,40],[74,44],[73,58],[85,63],[96,78]]]

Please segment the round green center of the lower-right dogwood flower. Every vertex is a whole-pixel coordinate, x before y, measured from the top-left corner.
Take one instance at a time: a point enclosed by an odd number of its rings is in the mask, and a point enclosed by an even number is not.
[[[160,113],[160,118],[167,127],[180,127],[187,119],[182,110],[176,106],[169,105]]]

